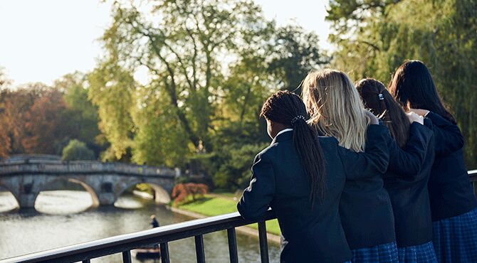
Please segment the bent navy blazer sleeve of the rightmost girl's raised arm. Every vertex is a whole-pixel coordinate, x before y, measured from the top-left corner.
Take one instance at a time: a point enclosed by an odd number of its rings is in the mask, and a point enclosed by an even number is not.
[[[431,119],[434,131],[434,151],[439,155],[451,154],[463,147],[463,136],[456,124],[434,112],[426,115]]]

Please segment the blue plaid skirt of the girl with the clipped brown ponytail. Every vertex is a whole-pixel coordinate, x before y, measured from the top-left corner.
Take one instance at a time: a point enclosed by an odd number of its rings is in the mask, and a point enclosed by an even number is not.
[[[422,245],[398,247],[400,263],[437,263],[432,241]]]

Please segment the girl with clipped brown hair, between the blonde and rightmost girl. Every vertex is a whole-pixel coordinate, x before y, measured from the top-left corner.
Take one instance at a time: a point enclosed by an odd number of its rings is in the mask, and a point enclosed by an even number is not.
[[[356,88],[365,107],[389,128],[389,166],[383,174],[391,198],[399,262],[437,262],[432,244],[431,208],[427,182],[434,162],[429,119],[406,114],[384,85],[360,80]],[[409,118],[415,120],[410,124]]]

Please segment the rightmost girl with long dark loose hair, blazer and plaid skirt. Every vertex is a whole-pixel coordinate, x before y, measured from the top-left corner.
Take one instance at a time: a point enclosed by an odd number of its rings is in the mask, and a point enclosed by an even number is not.
[[[401,65],[389,92],[432,121],[434,159],[429,178],[433,242],[439,262],[477,262],[477,200],[463,162],[463,136],[444,107],[429,69],[419,60]]]

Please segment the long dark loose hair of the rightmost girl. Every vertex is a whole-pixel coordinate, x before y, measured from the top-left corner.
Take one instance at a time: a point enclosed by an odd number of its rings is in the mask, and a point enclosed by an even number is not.
[[[446,109],[432,80],[429,69],[419,60],[409,60],[397,68],[389,82],[389,92],[407,109],[427,109],[456,124],[454,116]]]

